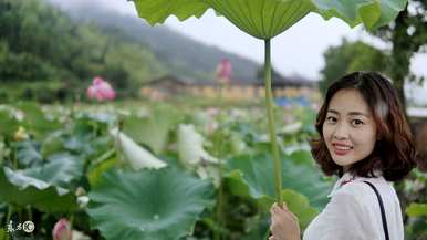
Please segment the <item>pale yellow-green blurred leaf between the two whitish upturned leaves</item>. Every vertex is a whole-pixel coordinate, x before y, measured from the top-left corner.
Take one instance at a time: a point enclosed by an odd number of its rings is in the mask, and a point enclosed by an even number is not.
[[[123,132],[139,144],[148,146],[155,154],[160,154],[168,142],[173,117],[163,112],[150,116],[131,115],[124,118]]]

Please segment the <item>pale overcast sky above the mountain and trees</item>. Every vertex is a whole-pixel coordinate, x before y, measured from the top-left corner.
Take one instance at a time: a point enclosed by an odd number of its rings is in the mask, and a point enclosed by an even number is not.
[[[75,4],[79,1],[85,0],[61,2]],[[136,17],[132,1],[98,1],[100,4],[107,8]],[[184,22],[179,22],[175,17],[169,17],[166,25],[205,44],[247,56],[259,63],[263,61],[263,42],[240,31],[223,17],[217,17],[212,10],[208,10],[200,19],[190,18]],[[365,33],[361,27],[350,29],[341,20],[324,21],[320,15],[310,13],[272,40],[272,64],[283,74],[300,74],[319,80],[320,70],[324,66],[323,52],[331,45],[340,44],[343,38],[362,39],[381,49],[387,48],[382,41]],[[412,61],[410,69],[417,75],[427,77],[427,54],[417,54]],[[425,85],[427,88],[427,84]]]

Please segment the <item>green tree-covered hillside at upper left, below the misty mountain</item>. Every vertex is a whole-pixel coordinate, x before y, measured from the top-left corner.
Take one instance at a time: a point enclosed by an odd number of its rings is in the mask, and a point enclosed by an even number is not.
[[[3,100],[37,100],[43,93],[49,102],[60,93],[84,93],[96,75],[112,81],[123,91],[121,96],[131,96],[142,82],[166,72],[140,42],[131,42],[119,31],[104,33],[94,24],[76,24],[39,0],[0,0],[0,32],[1,95],[8,95]]]

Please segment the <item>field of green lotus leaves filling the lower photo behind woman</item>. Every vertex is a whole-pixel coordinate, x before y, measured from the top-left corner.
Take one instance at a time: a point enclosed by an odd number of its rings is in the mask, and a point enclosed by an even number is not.
[[[125,106],[0,106],[0,239],[52,239],[59,219],[82,240],[267,238],[275,196],[264,108]],[[274,117],[282,197],[304,229],[335,179],[310,154],[315,111],[275,106]],[[408,239],[426,231],[426,205],[408,204],[425,181],[414,171],[397,186]],[[27,220],[33,232],[8,231]]]

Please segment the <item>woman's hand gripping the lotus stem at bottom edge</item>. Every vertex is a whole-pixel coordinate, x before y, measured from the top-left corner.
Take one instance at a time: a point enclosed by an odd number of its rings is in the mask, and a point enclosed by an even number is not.
[[[298,218],[283,202],[282,208],[274,202],[271,208],[271,237],[269,240],[301,240]]]

